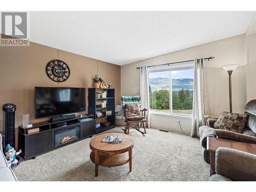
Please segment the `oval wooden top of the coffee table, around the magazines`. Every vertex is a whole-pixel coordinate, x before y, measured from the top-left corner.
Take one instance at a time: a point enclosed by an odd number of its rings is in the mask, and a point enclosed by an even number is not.
[[[106,136],[114,136],[114,135],[122,136],[123,141],[120,143],[102,142],[102,140]],[[130,135],[126,135],[122,133],[105,133],[105,134],[94,137],[90,141],[91,150],[96,150],[99,152],[117,152],[117,151],[122,152],[133,146],[134,146],[134,139]]]

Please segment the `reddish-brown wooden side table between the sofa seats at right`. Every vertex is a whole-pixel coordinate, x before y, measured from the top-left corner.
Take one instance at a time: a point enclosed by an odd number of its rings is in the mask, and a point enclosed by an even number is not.
[[[234,150],[239,150],[242,152],[256,155],[256,144],[227,139],[219,139],[215,137],[207,137],[207,151],[210,152],[210,176],[216,174],[215,153],[219,147],[232,148]]]

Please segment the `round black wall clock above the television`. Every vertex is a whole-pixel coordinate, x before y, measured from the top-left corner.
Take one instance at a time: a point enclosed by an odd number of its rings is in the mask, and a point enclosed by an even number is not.
[[[70,69],[66,62],[55,59],[47,64],[46,73],[53,81],[63,82],[69,78]]]

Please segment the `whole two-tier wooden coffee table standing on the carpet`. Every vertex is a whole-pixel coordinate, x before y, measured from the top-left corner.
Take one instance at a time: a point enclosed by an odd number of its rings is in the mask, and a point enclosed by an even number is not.
[[[121,135],[121,143],[106,143],[102,140],[106,136]],[[129,162],[130,172],[132,171],[134,139],[130,135],[122,133],[106,133],[94,137],[90,141],[91,161],[95,164],[95,177],[98,176],[98,166],[113,167]]]

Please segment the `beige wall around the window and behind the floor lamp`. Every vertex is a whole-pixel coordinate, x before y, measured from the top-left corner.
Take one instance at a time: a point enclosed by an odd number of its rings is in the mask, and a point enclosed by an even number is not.
[[[243,113],[246,104],[245,47],[243,34],[121,66],[121,95],[139,94],[139,70],[136,67],[215,56],[206,61],[210,114],[229,111],[228,74],[221,66],[234,63],[240,67],[232,74],[233,112]],[[190,133],[191,118],[152,115],[151,126],[180,131],[177,119],[181,120],[184,131]]]

